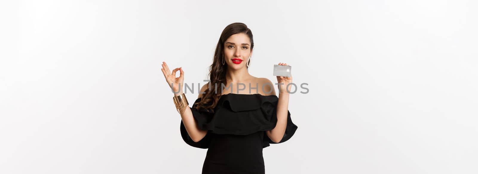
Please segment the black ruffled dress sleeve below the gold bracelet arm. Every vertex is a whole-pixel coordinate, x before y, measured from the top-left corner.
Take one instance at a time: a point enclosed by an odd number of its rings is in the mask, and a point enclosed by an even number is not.
[[[194,103],[197,103],[200,100],[201,98],[197,98]],[[213,114],[210,111],[195,109],[196,105],[197,104],[193,104],[193,107],[189,107],[189,108],[191,109],[191,112],[193,113],[194,120],[196,121],[196,124],[198,125],[199,129],[204,130],[203,129],[204,126],[206,125],[208,120],[212,118]],[[194,142],[193,139],[191,139],[191,137],[187,133],[183,120],[181,120],[180,130],[181,130],[181,137],[190,146],[201,148],[201,149],[207,149],[209,147],[210,133],[207,133],[206,136],[200,141]]]

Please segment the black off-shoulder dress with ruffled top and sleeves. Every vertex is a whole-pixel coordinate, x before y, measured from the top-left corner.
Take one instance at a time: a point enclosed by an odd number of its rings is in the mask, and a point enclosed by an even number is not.
[[[277,123],[275,95],[234,94],[221,95],[214,111],[196,110],[201,98],[191,108],[201,130],[208,130],[201,141],[194,142],[181,120],[183,140],[197,148],[207,149],[202,174],[264,174],[262,149],[275,144],[266,135]],[[289,140],[297,130],[287,111],[287,126],[282,140]]]

